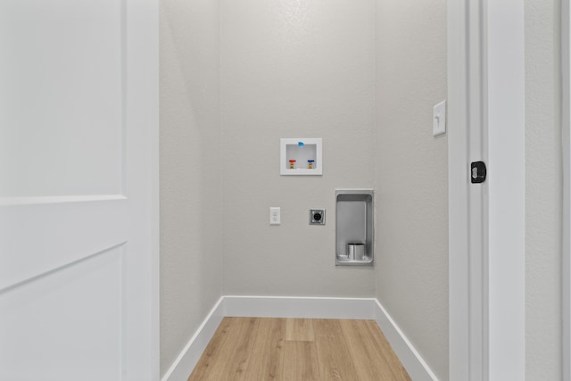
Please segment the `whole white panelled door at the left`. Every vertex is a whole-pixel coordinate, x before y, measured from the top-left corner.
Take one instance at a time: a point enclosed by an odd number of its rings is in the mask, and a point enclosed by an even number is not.
[[[0,0],[0,380],[158,379],[156,0]]]

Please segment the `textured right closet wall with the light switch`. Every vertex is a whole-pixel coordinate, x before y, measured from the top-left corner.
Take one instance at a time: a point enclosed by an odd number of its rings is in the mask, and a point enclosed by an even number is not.
[[[377,0],[377,297],[448,379],[446,1]]]

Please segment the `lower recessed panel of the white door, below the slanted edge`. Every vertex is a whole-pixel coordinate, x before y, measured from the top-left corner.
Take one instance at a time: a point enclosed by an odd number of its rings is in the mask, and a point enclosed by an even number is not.
[[[0,297],[2,380],[120,379],[121,248]]]

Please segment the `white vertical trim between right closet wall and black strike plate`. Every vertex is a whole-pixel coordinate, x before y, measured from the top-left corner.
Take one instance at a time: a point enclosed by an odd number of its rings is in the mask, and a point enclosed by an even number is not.
[[[448,7],[449,374],[470,380],[468,4]]]

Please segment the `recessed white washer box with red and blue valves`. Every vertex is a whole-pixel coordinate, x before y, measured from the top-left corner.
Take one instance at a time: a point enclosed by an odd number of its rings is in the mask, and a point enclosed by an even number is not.
[[[319,176],[323,174],[323,145],[320,137],[280,139],[280,175]]]

